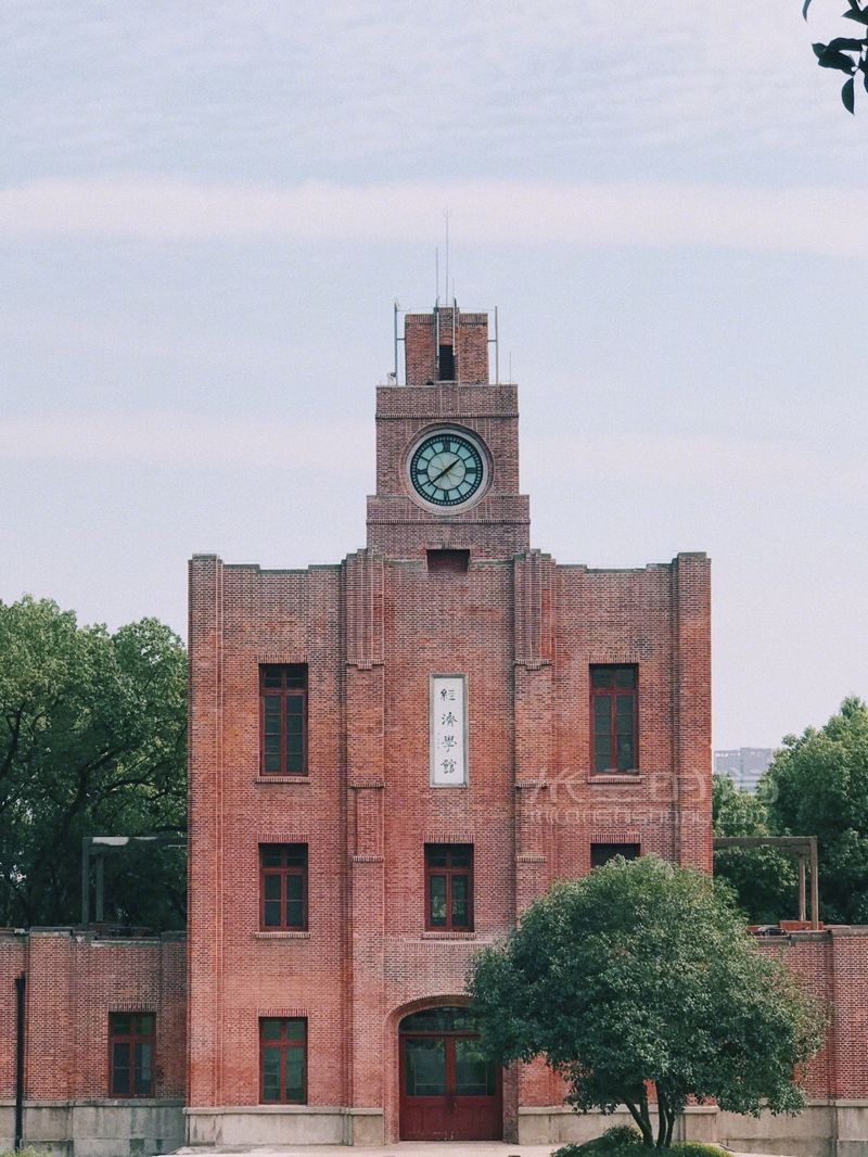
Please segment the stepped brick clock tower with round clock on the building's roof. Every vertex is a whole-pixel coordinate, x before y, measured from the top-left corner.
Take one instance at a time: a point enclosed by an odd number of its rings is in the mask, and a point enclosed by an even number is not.
[[[517,390],[490,381],[488,345],[487,315],[457,303],[404,317],[406,384],[377,389],[377,489],[368,499],[368,546],[387,558],[529,550]]]

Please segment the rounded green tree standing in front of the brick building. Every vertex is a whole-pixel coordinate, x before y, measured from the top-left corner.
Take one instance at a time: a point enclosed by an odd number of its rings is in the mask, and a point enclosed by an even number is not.
[[[757,951],[728,890],[654,856],[556,884],[475,957],[468,990],[490,1055],[545,1057],[576,1111],[624,1104],[657,1148],[691,1096],[797,1112],[794,1073],[823,1037],[816,1005]]]

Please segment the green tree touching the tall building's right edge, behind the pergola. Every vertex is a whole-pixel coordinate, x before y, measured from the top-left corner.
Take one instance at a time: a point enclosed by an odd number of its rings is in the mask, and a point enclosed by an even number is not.
[[[712,789],[715,835],[771,835],[765,799],[742,791],[728,775],[715,775]],[[801,833],[800,833],[801,834]],[[714,875],[733,887],[751,923],[771,924],[796,916],[796,868],[774,848],[721,848]]]

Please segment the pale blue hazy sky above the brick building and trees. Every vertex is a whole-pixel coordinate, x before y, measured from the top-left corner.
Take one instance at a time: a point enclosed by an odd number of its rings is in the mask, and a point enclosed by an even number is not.
[[[362,545],[440,290],[498,307],[535,546],[712,557],[716,747],[868,694],[844,0],[2,7],[0,599],[183,635],[190,554]]]

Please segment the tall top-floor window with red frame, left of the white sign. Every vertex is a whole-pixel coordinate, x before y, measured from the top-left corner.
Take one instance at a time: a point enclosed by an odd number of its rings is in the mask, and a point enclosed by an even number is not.
[[[308,665],[259,668],[263,775],[308,774]]]

